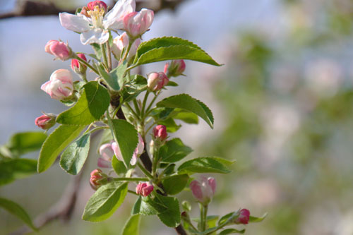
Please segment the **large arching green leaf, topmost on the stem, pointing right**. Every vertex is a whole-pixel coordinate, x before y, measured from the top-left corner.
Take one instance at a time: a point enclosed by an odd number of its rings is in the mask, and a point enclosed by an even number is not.
[[[196,44],[178,37],[160,37],[141,43],[133,64],[138,66],[169,59],[190,59],[220,66]]]

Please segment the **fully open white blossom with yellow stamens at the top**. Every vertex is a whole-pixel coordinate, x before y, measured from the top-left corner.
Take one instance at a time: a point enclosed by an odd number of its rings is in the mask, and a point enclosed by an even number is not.
[[[73,15],[70,13],[59,13],[61,25],[74,32],[80,32],[82,44],[103,44],[109,39],[109,30],[124,29],[123,19],[128,13],[135,11],[134,0],[119,0],[111,11],[103,4],[90,2],[83,13]],[[107,5],[105,5],[107,6]]]

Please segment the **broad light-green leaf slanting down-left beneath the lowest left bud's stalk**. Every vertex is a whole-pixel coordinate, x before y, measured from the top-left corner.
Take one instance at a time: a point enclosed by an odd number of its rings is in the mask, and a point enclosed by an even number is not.
[[[100,222],[113,215],[124,202],[128,191],[128,183],[113,181],[100,186],[85,206],[82,219],[90,222]]]

